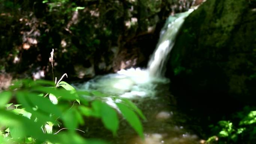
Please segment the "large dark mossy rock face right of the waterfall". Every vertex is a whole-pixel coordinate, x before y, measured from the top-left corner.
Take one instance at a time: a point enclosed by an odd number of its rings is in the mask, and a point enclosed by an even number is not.
[[[255,1],[203,3],[186,19],[167,67],[177,88],[202,102],[236,99],[255,104]]]

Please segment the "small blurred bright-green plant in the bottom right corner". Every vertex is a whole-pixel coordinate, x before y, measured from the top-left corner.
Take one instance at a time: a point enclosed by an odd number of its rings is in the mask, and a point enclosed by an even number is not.
[[[255,107],[245,107],[243,111],[233,114],[232,120],[222,120],[210,128],[215,136],[208,138],[208,143],[243,144],[256,141]]]

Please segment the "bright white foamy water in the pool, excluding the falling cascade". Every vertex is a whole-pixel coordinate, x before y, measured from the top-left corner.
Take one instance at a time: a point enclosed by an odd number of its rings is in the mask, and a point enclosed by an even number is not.
[[[98,76],[82,85],[75,85],[77,89],[97,90],[109,95],[119,95],[124,98],[138,98],[154,96],[157,83],[168,83],[166,78],[150,77],[147,70],[130,68],[120,70],[116,74]]]

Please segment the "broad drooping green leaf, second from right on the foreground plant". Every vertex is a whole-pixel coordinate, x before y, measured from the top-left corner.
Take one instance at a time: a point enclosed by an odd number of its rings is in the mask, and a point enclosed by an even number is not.
[[[104,126],[112,131],[113,135],[116,135],[119,127],[119,120],[116,111],[101,101],[92,102],[92,107],[96,113],[100,114]]]

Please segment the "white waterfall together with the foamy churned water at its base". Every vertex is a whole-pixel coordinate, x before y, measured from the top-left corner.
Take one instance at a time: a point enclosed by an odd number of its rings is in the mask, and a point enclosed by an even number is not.
[[[159,83],[168,83],[169,79],[162,77],[165,72],[167,56],[185,18],[193,11],[177,13],[170,16],[161,30],[160,39],[146,70],[129,68],[115,74],[97,76],[84,84],[78,84],[77,89],[97,90],[109,95],[119,95],[124,98],[155,96]]]

